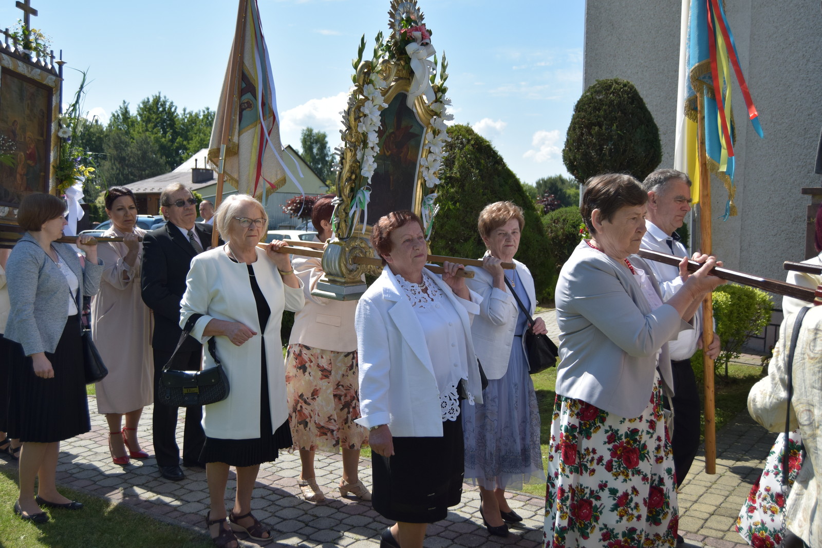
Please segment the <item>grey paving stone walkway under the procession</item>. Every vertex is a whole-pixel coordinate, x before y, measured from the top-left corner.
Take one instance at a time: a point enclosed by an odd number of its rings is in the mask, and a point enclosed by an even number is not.
[[[543,313],[549,331],[556,329],[552,311]],[[556,335],[556,332],[552,333]],[[204,535],[204,514],[209,504],[205,471],[183,468],[186,479],[166,481],[159,477],[154,458],[132,459],[120,467],[111,462],[104,416],[94,413],[96,402],[89,398],[92,431],[61,444],[58,482],[72,489],[126,504],[132,509],[181,527],[198,530]],[[151,407],[145,409],[142,424],[150,425]],[[182,422],[181,422],[182,426]],[[702,453],[691,469],[679,496],[680,531],[686,546],[737,548],[746,546],[734,530],[737,513],[750,486],[759,477],[764,458],[775,439],[742,412],[723,431],[718,432],[717,474],[704,473]],[[182,444],[182,428],[178,430]],[[151,453],[150,437],[141,432],[143,447]],[[436,456],[432,455],[432,458]],[[0,460],[0,467],[14,466]],[[252,508],[256,518],[272,528],[273,541],[263,546],[379,546],[379,532],[389,521],[382,518],[370,503],[339,496],[342,462],[339,455],[316,455],[317,482],[326,491],[325,504],[302,500],[297,486],[298,454],[282,454],[275,463],[261,466]],[[371,485],[370,463],[361,463],[361,478]],[[233,472],[226,490],[226,507],[233,504],[236,482]],[[543,497],[513,494],[510,505],[524,518],[523,527],[512,529],[501,539],[488,536],[479,516],[478,490],[465,486],[462,502],[448,513],[446,520],[428,527],[425,546],[540,546],[543,538]],[[242,542],[243,546],[256,546]]]

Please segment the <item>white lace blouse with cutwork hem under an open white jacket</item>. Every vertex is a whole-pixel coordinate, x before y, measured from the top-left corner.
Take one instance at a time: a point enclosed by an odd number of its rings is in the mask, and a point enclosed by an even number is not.
[[[459,314],[448,297],[427,273],[423,272],[423,283],[411,283],[395,274],[399,287],[408,297],[419,324],[423,327],[425,342],[431,349],[432,366],[436,386],[440,389],[440,408],[443,421],[455,421],[459,417],[460,380],[468,380],[468,354],[466,334]],[[473,405],[473,395],[468,394]]]

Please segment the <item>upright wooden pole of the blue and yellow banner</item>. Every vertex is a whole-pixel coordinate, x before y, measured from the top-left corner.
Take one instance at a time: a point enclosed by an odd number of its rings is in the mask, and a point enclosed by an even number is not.
[[[705,150],[704,98],[697,94],[699,120],[700,154],[700,239],[703,253],[711,254],[711,179],[708,173],[708,151]],[[713,397],[713,360],[705,352],[713,342],[713,300],[712,293],[705,295],[702,302],[702,364],[705,390],[705,472],[717,473],[716,403]],[[675,411],[676,412],[676,411]],[[683,478],[684,479],[684,478]]]

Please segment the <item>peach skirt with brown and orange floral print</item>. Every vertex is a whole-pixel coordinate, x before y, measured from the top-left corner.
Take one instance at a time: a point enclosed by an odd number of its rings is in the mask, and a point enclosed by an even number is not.
[[[289,422],[294,449],[360,449],[368,431],[359,412],[357,352],[333,352],[289,344],[285,361]]]

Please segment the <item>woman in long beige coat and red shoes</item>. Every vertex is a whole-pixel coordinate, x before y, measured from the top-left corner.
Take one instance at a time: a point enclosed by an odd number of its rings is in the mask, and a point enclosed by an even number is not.
[[[100,243],[105,269],[99,293],[91,303],[91,334],[109,375],[96,385],[97,412],[109,423],[109,450],[114,464],[148,458],[137,440],[143,408],[154,398],[154,360],[150,348],[151,312],[140,295],[142,244],[145,230],[136,226],[137,206],[132,191],[111,187],[105,211],[112,227],[104,236],[123,242]],[[126,425],[122,426],[122,417]]]

